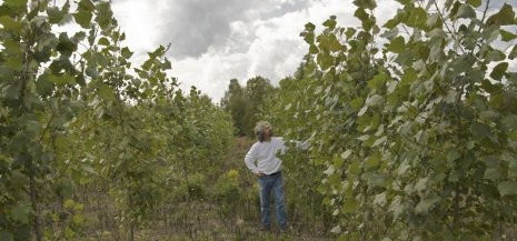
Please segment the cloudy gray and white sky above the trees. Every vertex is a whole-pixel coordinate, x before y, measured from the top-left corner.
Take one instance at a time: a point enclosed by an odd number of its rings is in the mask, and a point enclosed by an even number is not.
[[[501,6],[506,1],[493,0]],[[159,44],[171,43],[171,76],[183,90],[196,86],[219,102],[232,78],[246,84],[262,76],[277,84],[291,76],[308,51],[299,33],[307,22],[317,27],[337,16],[338,24],[358,26],[351,0],[113,0],[112,9],[136,52],[135,63]],[[386,22],[398,9],[378,0],[377,20]],[[318,31],[318,28],[317,28]]]

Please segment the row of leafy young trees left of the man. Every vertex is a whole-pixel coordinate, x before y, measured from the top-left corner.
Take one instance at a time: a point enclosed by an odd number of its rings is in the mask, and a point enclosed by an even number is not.
[[[168,48],[132,67],[108,1],[7,0],[0,24],[1,240],[84,235],[89,187],[133,240],[231,147],[230,116],[167,77]]]

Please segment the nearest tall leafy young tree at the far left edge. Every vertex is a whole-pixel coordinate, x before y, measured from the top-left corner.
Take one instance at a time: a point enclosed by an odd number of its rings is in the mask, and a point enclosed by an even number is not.
[[[83,7],[83,6],[82,6]],[[81,104],[78,89],[83,71],[74,60],[82,31],[73,36],[51,31],[81,13],[70,12],[68,2],[58,8],[48,1],[4,1],[1,6],[0,89],[2,109],[1,235],[26,240],[33,230],[42,240],[40,185],[58,163],[66,160],[63,128]],[[26,195],[26,193],[29,193]]]

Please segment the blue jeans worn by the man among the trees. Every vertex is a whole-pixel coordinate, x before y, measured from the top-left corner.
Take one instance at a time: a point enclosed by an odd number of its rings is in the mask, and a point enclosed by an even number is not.
[[[260,212],[262,225],[271,227],[270,197],[275,199],[277,221],[287,227],[286,199],[284,198],[284,179],[280,173],[259,178]]]

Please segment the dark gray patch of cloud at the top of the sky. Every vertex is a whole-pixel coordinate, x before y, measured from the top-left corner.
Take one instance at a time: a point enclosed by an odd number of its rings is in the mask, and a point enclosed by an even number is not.
[[[172,43],[175,59],[200,57],[209,48],[222,48],[230,39],[231,23],[282,16],[306,7],[307,1],[281,0],[175,0],[161,13],[158,41]],[[233,36],[235,37],[235,36]],[[235,48],[245,50],[255,36],[239,36]],[[235,40],[235,39],[233,39]],[[239,47],[240,46],[240,47]]]

